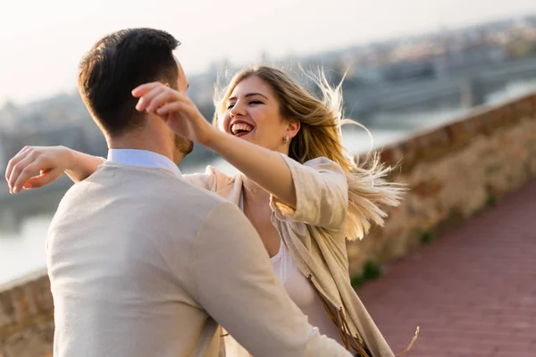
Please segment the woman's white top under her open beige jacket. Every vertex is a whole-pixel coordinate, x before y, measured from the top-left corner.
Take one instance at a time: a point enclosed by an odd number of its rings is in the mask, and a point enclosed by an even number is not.
[[[339,328],[331,321],[318,293],[314,291],[314,287],[297,269],[297,265],[282,239],[279,252],[270,258],[270,262],[272,262],[275,275],[285,286],[287,294],[297,304],[297,307],[306,314],[309,323],[317,327],[322,335],[326,335],[343,345]]]

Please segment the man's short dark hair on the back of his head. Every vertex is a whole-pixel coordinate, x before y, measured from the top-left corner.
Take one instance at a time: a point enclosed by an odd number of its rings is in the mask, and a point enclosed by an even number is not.
[[[155,80],[177,89],[179,70],[172,51],[180,42],[158,29],[123,29],[98,41],[80,62],[79,89],[88,110],[116,137],[144,125],[132,89]]]

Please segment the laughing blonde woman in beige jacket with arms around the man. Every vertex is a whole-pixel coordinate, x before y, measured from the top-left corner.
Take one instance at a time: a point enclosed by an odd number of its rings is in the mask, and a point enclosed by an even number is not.
[[[208,167],[185,179],[239,205],[310,322],[356,355],[392,356],[350,284],[346,239],[363,237],[371,221],[382,224],[382,208],[398,205],[402,188],[383,179],[389,170],[377,161],[365,170],[345,155],[340,86],[331,89],[323,76],[318,84],[322,100],[282,71],[264,66],[240,71],[216,101],[214,127],[188,95],[162,83],[142,85],[132,94],[139,97],[138,111],[160,115],[177,134],[209,147],[240,171],[229,177]],[[45,170],[26,188],[63,170],[80,181],[102,163],[65,148],[40,150],[46,164],[28,150],[17,159],[31,170]]]

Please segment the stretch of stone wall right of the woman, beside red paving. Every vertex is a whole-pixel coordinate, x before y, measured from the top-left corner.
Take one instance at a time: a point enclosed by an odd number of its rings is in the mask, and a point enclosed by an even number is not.
[[[409,191],[383,228],[348,244],[357,284],[536,178],[536,93],[389,145],[381,160]]]

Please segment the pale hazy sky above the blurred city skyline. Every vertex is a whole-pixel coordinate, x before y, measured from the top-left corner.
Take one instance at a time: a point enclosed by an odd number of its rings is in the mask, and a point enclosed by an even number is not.
[[[118,29],[164,29],[187,75],[211,62],[318,53],[536,13],[535,0],[29,0],[2,6],[0,105],[76,88],[78,62]]]

